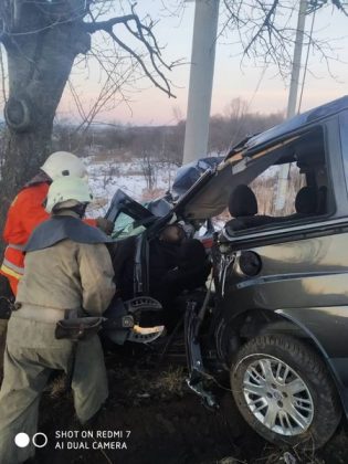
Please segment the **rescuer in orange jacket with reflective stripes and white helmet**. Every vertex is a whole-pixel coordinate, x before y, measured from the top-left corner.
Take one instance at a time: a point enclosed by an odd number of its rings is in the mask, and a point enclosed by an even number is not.
[[[23,246],[36,225],[50,218],[43,204],[49,187],[53,180],[64,176],[87,179],[87,170],[75,155],[56,151],[46,159],[38,175],[25,183],[10,205],[3,230],[7,249],[0,273],[9,280],[14,295],[24,273]],[[104,218],[87,219],[85,222],[106,233],[113,231],[113,223]]]

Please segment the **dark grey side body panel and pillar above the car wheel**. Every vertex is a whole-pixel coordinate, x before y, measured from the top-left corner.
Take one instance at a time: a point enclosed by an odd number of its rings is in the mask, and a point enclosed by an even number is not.
[[[220,317],[260,309],[283,315],[347,372],[348,210],[338,117],[321,128],[333,209],[231,236],[221,260]]]

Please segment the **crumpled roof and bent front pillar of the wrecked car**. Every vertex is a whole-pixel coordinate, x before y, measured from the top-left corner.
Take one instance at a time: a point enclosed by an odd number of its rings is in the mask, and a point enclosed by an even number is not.
[[[191,219],[208,219],[220,214],[228,204],[233,186],[247,184],[268,166],[270,159],[276,162],[281,156],[280,150],[296,140],[299,130],[306,130],[306,126],[313,126],[316,122],[347,108],[348,96],[344,96],[244,139],[229,152],[215,170],[207,170],[201,176],[179,199],[173,211]]]

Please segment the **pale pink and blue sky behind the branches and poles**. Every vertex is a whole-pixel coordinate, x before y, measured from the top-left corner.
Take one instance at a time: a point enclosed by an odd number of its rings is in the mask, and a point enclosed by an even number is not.
[[[168,0],[167,6],[173,3]],[[182,59],[186,64],[168,73],[173,83],[177,98],[168,98],[146,80],[137,84],[137,92],[130,95],[128,105],[119,104],[116,108],[102,112],[96,117],[99,122],[110,122],[129,125],[162,125],[176,124],[186,117],[188,87],[190,75],[191,42],[193,33],[194,2],[187,2],[183,11],[169,14],[164,10],[164,0],[140,0],[137,10],[141,17],[149,13],[158,20],[155,33],[158,42],[165,46],[162,55],[167,62]],[[172,8],[173,10],[173,8]],[[307,18],[306,30],[309,31],[312,20]],[[223,27],[220,18],[219,31]],[[339,60],[330,62],[330,72],[318,54],[309,53],[308,68],[304,97],[300,110],[306,110],[347,93],[348,84],[348,18],[331,7],[317,12],[314,31],[320,40],[330,40],[333,54]],[[232,39],[230,40],[230,42]],[[277,75],[274,66],[264,68],[255,66],[252,61],[244,61],[241,66],[241,46],[239,43],[228,43],[226,38],[217,42],[215,70],[212,93],[211,114],[224,114],[229,103],[242,98],[247,109],[253,113],[274,113],[286,109],[289,78],[284,81]],[[303,62],[306,56],[303,53]],[[346,62],[345,62],[346,61]],[[85,73],[75,73],[73,83],[82,101],[88,106],[98,92],[99,77],[97,66]],[[331,75],[330,75],[331,74]],[[60,106],[60,117],[71,118],[76,115],[72,98],[66,91]]]

